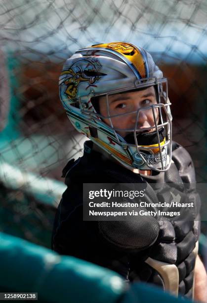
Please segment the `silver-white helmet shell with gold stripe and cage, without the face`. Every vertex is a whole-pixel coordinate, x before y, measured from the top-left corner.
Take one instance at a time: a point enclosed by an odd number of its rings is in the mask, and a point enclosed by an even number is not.
[[[104,122],[104,117],[95,110],[92,100],[94,97],[106,96],[108,102],[108,96],[112,94],[150,86],[156,86],[158,93],[157,104],[150,105],[150,110],[154,111],[156,108],[160,115],[159,121],[155,121],[150,130],[157,140],[140,144],[137,140],[140,130],[136,123],[130,130],[134,141],[128,143],[113,123]],[[167,81],[146,50],[124,42],[100,44],[78,50],[63,66],[59,78],[59,93],[74,127],[124,166],[157,171],[169,168],[172,118]],[[137,111],[137,119],[139,114]],[[108,119],[112,121],[110,116]],[[150,137],[149,128],[146,132]],[[161,135],[161,132],[165,135]]]

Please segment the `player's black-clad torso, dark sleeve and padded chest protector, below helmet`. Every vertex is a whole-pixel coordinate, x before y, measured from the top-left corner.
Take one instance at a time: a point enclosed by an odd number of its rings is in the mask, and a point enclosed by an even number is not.
[[[68,188],[58,206],[52,248],[108,267],[129,281],[146,281],[175,296],[193,298],[194,267],[200,233],[200,199],[189,153],[173,143],[172,164],[166,172],[141,176],[106,160],[87,141],[84,155],[63,170]],[[149,202],[165,201],[169,190],[194,202],[184,219],[139,217],[130,221],[83,221],[83,183],[145,183]],[[166,184],[152,189],[150,184]],[[185,186],[184,186],[185,184]]]

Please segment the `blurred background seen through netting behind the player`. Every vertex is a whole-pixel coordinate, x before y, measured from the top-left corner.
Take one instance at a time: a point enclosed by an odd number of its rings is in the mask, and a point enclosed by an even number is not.
[[[59,101],[58,77],[76,50],[114,41],[145,48],[163,70],[173,140],[207,183],[206,0],[0,0],[1,232],[50,248],[61,172],[85,140]],[[205,258],[205,221],[202,233]]]

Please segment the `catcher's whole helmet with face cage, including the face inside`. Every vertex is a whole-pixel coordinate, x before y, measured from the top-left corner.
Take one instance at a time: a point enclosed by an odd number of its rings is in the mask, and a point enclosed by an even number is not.
[[[78,50],[63,66],[59,93],[74,127],[124,166],[169,168],[167,80],[146,50],[124,42]]]

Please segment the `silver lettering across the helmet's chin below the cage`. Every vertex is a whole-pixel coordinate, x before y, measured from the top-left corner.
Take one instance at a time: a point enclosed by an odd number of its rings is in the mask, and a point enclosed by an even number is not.
[[[165,163],[167,158],[166,149],[163,149],[161,153],[162,153],[162,160]],[[140,154],[143,156],[143,158],[145,159],[148,165],[159,164],[161,162],[160,152],[157,152],[155,154],[140,152]],[[133,158],[134,158],[133,166],[137,168],[141,168],[145,164],[145,161],[140,157],[138,152],[135,152],[133,154]]]

